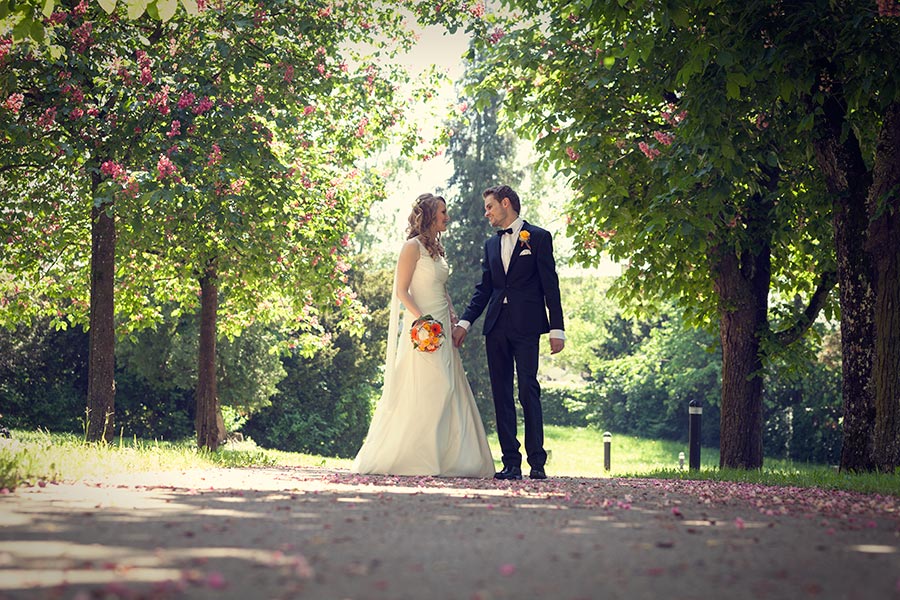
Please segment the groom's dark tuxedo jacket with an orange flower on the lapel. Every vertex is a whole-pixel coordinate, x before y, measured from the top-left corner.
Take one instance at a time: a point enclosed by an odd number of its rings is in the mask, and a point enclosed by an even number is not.
[[[521,238],[516,240],[506,272],[500,257],[500,236],[492,236],[484,243],[481,282],[475,286],[475,294],[461,318],[474,323],[487,308],[485,335],[497,322],[504,298],[511,324],[519,333],[540,335],[551,329],[564,329],[553,238],[549,231],[527,222],[522,231],[530,237],[527,243]]]

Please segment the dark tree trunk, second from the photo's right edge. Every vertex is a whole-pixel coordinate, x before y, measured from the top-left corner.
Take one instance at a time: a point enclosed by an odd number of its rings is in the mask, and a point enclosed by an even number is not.
[[[838,90],[835,90],[839,93]],[[841,370],[844,403],[841,469],[868,471],[872,460],[875,397],[872,380],[875,334],[871,263],[865,250],[866,195],[871,179],[859,141],[846,124],[844,108],[834,96],[816,122],[814,147],[819,167],[833,196],[834,245],[841,303]]]

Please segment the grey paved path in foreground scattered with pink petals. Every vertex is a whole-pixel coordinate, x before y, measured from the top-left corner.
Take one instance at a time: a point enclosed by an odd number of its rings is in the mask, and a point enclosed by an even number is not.
[[[893,599],[898,533],[817,490],[144,473],[0,496],[0,599]]]

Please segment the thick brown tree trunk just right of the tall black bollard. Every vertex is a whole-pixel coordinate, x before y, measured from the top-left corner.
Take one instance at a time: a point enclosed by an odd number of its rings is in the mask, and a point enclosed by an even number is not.
[[[763,463],[760,335],[768,329],[769,247],[741,258],[720,251],[712,266],[722,342],[719,466],[758,469]]]

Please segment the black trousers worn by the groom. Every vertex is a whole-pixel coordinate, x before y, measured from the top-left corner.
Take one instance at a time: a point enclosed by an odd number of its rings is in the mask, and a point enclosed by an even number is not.
[[[522,453],[516,436],[516,405],[513,400],[513,375],[518,377],[519,404],[525,418],[525,452],[528,464],[543,468],[544,416],[541,411],[541,386],[537,380],[541,336],[523,335],[510,324],[509,311],[500,309],[497,322],[485,336],[491,392],[497,417],[497,437],[503,452],[503,465],[520,467]]]

